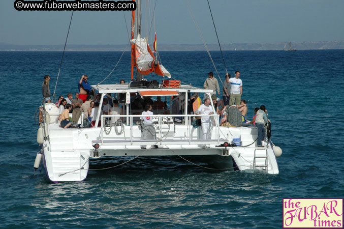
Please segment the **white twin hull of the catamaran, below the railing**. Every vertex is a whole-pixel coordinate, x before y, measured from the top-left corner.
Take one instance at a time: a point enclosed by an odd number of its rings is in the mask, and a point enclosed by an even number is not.
[[[165,135],[162,140],[141,140],[141,131],[138,126],[132,127],[130,139],[131,127],[124,126],[124,128],[124,133],[117,135],[114,127],[111,127],[110,133],[105,134],[101,139],[101,127],[62,130],[58,124],[49,125],[49,137],[42,145],[47,177],[54,183],[83,181],[87,177],[89,158],[178,155],[187,156],[187,158],[196,155],[218,155],[220,157],[216,157],[216,160],[211,163],[219,169],[257,169],[268,174],[278,174],[278,165],[271,142],[268,145],[265,142],[264,148],[256,147],[256,128],[220,127],[220,137],[211,141],[200,139],[201,127],[170,125],[168,128],[162,125],[162,135]],[[191,133],[190,139],[187,138],[188,131]],[[215,130],[212,131],[212,136],[214,136]],[[242,139],[241,146],[220,147],[224,142],[230,142],[232,138]],[[95,144],[100,145],[99,149],[93,147]],[[207,144],[209,148],[203,149],[204,144]],[[147,149],[141,149],[142,145]],[[159,148],[151,148],[153,145],[158,145]]]

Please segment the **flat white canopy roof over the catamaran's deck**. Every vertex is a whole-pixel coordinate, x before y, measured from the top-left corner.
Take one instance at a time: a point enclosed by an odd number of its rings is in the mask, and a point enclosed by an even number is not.
[[[161,85],[160,85],[161,87]],[[201,88],[196,88],[193,87],[192,85],[180,85],[179,88],[129,88],[129,83],[117,83],[117,84],[99,84],[99,85],[92,85],[92,88],[99,91],[101,94],[106,94],[106,93],[126,93],[126,92],[140,92],[144,93],[145,91],[154,91],[155,93],[159,93],[162,91],[166,91],[169,93],[185,93],[185,92],[190,92],[190,93],[212,93],[212,90],[208,89],[201,89]],[[167,93],[167,94],[169,94]],[[161,94],[164,94],[163,92]],[[148,96],[148,95],[145,95]],[[152,95],[153,96],[153,95]]]

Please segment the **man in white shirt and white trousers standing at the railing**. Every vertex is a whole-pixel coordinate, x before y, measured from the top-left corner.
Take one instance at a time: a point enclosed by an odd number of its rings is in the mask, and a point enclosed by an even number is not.
[[[206,98],[204,100],[204,104],[202,104],[197,110],[196,115],[213,115],[214,109],[210,106],[210,99]],[[203,132],[203,139],[211,139],[211,131],[212,131],[212,121],[211,116],[202,116],[202,132]],[[203,146],[205,148],[205,145]]]

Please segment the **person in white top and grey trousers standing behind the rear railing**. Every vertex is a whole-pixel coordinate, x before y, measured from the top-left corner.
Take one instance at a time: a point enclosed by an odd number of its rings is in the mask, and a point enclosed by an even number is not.
[[[155,129],[153,126],[153,112],[150,111],[152,106],[150,104],[146,104],[144,111],[142,112],[141,119],[141,128],[142,128],[142,139],[157,139],[157,135],[155,134]],[[154,148],[157,149],[158,146],[154,145]],[[146,149],[145,146],[141,146],[141,149]]]

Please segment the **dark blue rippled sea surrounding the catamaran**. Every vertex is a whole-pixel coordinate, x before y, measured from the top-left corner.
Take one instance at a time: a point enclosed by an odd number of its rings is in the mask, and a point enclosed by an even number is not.
[[[83,74],[99,83],[121,54],[66,52],[56,95],[77,92]],[[224,80],[221,53],[211,55]],[[53,184],[42,164],[33,168],[39,151],[34,113],[44,75],[54,91],[61,56],[0,52],[0,227],[282,228],[283,198],[344,197],[344,50],[224,52],[229,73],[241,72],[248,118],[255,106],[264,104],[269,112],[271,139],[283,150],[278,175],[214,172],[176,157],[138,157],[89,171],[83,182]],[[197,87],[215,72],[205,51],[160,56],[174,78]],[[120,79],[130,80],[129,52],[104,83]],[[90,167],[128,159],[104,158]]]

